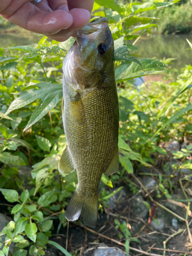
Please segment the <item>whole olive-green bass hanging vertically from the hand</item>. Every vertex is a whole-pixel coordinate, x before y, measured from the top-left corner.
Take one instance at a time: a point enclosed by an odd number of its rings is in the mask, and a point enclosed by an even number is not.
[[[66,219],[95,227],[102,174],[119,167],[119,106],[114,67],[114,40],[108,20],[101,18],[76,32],[63,60],[63,127],[67,146],[58,169],[77,171],[78,185]]]

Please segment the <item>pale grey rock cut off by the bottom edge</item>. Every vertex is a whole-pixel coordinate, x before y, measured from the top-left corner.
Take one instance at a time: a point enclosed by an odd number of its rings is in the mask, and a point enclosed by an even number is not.
[[[125,252],[117,247],[108,247],[106,245],[91,247],[84,251],[83,256],[125,256]],[[47,256],[47,254],[46,254]]]

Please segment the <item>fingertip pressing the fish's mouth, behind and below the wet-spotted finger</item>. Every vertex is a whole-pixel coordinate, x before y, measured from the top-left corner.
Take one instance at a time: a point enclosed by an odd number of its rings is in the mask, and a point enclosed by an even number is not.
[[[77,30],[86,26],[90,21],[90,13],[87,10],[72,9],[69,13],[73,16],[73,24],[68,29],[61,30],[55,35],[51,35],[51,37],[47,35],[48,37],[56,41],[65,41],[70,36],[74,36]]]

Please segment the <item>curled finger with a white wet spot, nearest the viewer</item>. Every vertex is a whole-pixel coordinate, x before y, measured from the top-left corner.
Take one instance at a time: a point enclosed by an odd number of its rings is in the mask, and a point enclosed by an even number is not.
[[[47,13],[29,2],[14,12],[8,20],[24,29],[48,35],[69,28],[73,24],[73,16],[69,12],[55,10]]]

